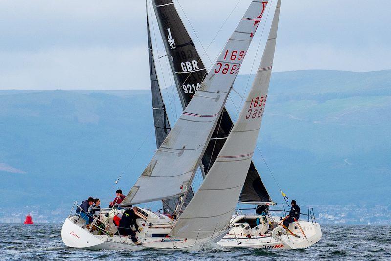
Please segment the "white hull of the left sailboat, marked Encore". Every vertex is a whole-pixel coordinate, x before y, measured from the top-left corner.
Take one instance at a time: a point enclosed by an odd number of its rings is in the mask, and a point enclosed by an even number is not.
[[[136,245],[127,236],[116,235],[116,231],[113,233],[106,233],[102,235],[94,235],[89,232],[87,228],[84,228],[83,220],[79,219],[78,216],[70,216],[65,219],[65,222],[61,228],[61,238],[64,244],[72,248],[83,248],[90,250],[130,250],[138,251],[146,248],[153,248],[159,250],[190,250],[203,247],[203,245],[210,242],[217,242],[226,233],[216,233],[216,236],[208,239],[181,239],[172,238],[159,235],[167,235],[172,229],[172,225],[168,224],[170,221],[166,216],[161,215],[161,221],[156,219],[150,219],[153,217],[153,213],[144,210],[149,214],[147,222],[153,222],[152,226],[142,226],[145,224],[143,220],[137,220],[139,227],[142,228],[140,233],[136,233],[138,241],[141,245]],[[113,226],[115,229],[115,227]],[[114,235],[113,235],[114,234]]]

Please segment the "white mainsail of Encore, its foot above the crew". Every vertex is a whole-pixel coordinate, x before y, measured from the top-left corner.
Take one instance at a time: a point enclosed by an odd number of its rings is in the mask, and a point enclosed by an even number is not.
[[[189,189],[266,4],[267,0],[251,2],[214,67],[129,191],[123,205],[174,198]],[[190,71],[197,70],[196,61],[185,66]]]

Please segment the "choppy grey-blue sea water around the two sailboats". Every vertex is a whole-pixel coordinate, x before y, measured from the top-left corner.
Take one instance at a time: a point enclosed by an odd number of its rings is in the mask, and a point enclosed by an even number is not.
[[[66,247],[61,224],[0,224],[1,260],[391,260],[391,226],[322,225],[322,239],[308,249],[196,252],[89,251]]]

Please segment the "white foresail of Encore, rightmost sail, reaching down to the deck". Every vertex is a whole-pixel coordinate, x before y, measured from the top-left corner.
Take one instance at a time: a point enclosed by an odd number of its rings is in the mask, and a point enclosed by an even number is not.
[[[217,160],[170,235],[185,238],[217,236],[229,224],[254,153],[265,109],[276,46],[280,0],[258,72]],[[206,204],[207,203],[207,204]]]

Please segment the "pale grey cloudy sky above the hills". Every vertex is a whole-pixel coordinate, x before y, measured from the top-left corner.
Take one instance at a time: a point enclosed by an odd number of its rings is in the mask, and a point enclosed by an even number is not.
[[[179,0],[195,32],[174,2],[202,54],[195,33],[206,48],[238,0]],[[208,48],[211,60],[249,2],[239,2]],[[391,69],[390,14],[388,0],[282,0],[274,71]],[[2,0],[0,18],[0,89],[149,88],[143,0]],[[251,71],[260,28],[242,74]],[[265,35],[268,29],[266,23]]]

